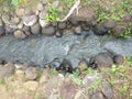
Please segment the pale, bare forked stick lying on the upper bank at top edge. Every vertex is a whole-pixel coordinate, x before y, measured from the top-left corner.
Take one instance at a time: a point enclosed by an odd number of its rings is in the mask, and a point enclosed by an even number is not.
[[[79,6],[79,3],[80,3],[80,0],[75,0],[75,4],[69,10],[68,14],[63,20],[61,20],[61,21],[62,22],[66,21],[68,19],[68,16],[74,12],[75,9],[77,10],[77,14],[78,14],[78,6]]]

